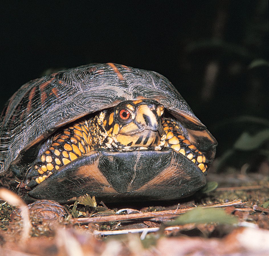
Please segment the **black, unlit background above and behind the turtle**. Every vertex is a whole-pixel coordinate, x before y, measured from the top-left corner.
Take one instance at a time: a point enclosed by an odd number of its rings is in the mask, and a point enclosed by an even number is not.
[[[47,69],[114,62],[166,76],[219,155],[268,119],[267,0],[1,1],[0,17],[1,109]]]

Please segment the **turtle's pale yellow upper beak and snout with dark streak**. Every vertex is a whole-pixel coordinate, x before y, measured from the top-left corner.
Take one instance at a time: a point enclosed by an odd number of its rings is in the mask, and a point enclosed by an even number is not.
[[[136,122],[143,130],[158,131],[162,136],[161,116],[164,113],[164,106],[155,103],[142,104],[136,110]]]

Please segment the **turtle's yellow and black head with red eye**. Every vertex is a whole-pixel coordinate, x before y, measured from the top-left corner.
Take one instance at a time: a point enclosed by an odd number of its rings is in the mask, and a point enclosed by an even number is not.
[[[104,118],[109,137],[131,147],[155,147],[163,135],[164,106],[155,100],[123,101]]]

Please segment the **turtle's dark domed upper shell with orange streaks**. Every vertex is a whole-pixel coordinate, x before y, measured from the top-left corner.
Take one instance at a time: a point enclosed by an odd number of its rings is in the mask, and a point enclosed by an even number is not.
[[[138,99],[154,99],[164,105],[182,124],[189,141],[209,162],[214,158],[216,140],[168,79],[124,65],[94,64],[30,81],[9,99],[0,119],[0,175],[13,166],[27,165],[24,156],[63,125],[122,101]],[[154,157],[148,152],[143,161]],[[76,160],[81,165],[81,160]],[[111,175],[113,167],[109,168]],[[48,186],[48,182],[42,183],[39,185]]]

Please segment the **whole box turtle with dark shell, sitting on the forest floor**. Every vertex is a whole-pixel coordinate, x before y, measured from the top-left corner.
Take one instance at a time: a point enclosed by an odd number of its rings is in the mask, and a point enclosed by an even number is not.
[[[9,99],[0,175],[28,202],[173,200],[206,184],[216,146],[166,77],[91,64],[32,80]]]

